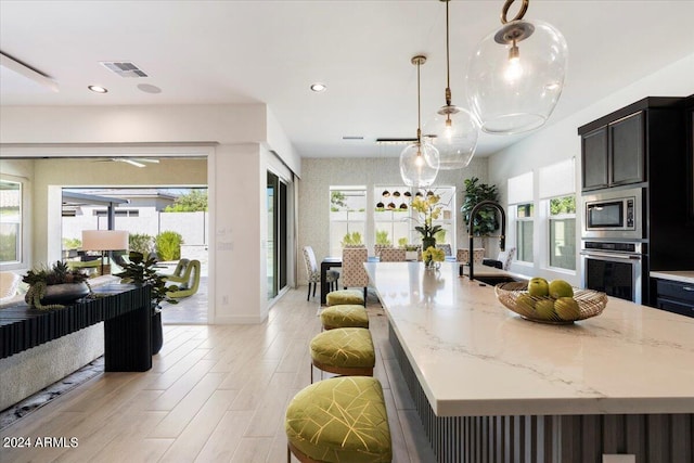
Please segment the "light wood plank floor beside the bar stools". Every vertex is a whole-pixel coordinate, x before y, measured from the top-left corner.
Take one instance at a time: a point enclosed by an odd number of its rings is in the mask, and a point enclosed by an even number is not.
[[[74,448],[0,448],[1,462],[285,462],[284,410],[309,384],[318,304],[290,291],[259,325],[167,325],[146,373],[104,373],[4,429],[0,437],[78,439]],[[370,305],[394,462],[433,451]],[[60,443],[60,442],[59,442]]]

